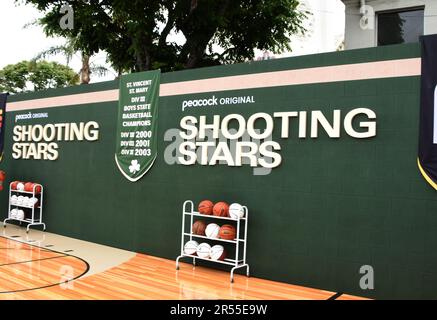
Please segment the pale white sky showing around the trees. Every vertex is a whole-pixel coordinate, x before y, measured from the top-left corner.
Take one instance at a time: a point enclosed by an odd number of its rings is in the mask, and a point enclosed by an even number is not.
[[[292,52],[286,52],[278,57],[289,57],[312,53],[335,51],[344,38],[344,5],[340,0],[302,0],[305,7],[312,15],[305,22],[308,34],[304,37],[293,37]],[[51,46],[64,43],[62,38],[48,38],[40,27],[24,26],[40,17],[41,13],[29,5],[16,5],[14,0],[0,1],[0,68],[8,64],[30,60],[39,52]],[[177,37],[177,36],[176,36]],[[180,39],[178,39],[180,42]],[[4,45],[7,44],[7,45]],[[256,52],[261,56],[261,52]],[[52,57],[48,60],[66,63],[62,56]],[[92,62],[106,65],[105,54],[99,53],[92,58]],[[107,66],[107,65],[106,65]],[[79,56],[70,63],[74,70],[80,69]],[[104,77],[94,77],[92,82],[112,80],[115,73]]]

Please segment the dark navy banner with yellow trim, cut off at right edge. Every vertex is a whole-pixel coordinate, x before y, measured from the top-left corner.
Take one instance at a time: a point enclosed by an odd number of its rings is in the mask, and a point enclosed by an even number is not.
[[[437,35],[422,41],[418,166],[425,180],[437,190]]]

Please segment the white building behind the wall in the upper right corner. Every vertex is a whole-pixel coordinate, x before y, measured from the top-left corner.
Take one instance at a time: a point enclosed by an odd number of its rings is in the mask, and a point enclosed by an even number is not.
[[[418,42],[437,34],[437,0],[342,0],[346,49]]]

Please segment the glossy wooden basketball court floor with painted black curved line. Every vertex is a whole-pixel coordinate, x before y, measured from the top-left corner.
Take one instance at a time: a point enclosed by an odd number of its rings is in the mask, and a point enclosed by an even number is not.
[[[231,284],[228,272],[184,263],[176,271],[173,260],[8,225],[0,234],[0,299],[361,298],[244,275]]]

